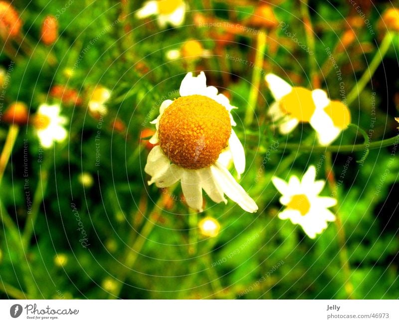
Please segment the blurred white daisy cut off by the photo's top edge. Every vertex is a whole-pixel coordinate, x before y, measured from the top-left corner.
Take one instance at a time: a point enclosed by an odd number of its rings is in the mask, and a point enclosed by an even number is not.
[[[183,24],[186,3],[183,0],[151,0],[144,2],[143,7],[136,11],[139,19],[153,14],[158,15],[157,21],[161,28],[165,28],[168,22],[177,27]]]

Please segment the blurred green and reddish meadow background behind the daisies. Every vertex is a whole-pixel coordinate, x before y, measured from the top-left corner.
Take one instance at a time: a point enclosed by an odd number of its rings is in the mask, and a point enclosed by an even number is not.
[[[227,59],[226,54],[253,62],[257,34],[227,28],[226,22],[256,30],[251,17],[261,2],[271,6],[278,23],[289,25],[287,32],[307,43],[306,13],[301,1],[294,0],[194,0],[184,24],[169,29],[161,29],[152,21],[154,16],[144,20],[134,16],[142,1],[75,0],[67,8],[67,0],[36,0],[28,5],[12,1],[23,21],[23,37],[11,44],[18,52],[15,58],[2,47],[1,66],[5,70],[12,67],[1,98],[2,111],[16,100],[25,102],[30,114],[41,103],[60,103],[61,114],[68,117],[69,136],[41,153],[31,124],[20,127],[0,186],[1,298],[399,297],[399,163],[391,155],[393,147],[371,150],[362,164],[355,161],[363,151],[332,154],[337,179],[348,158],[353,158],[335,188],[340,232],[338,224],[330,223],[311,240],[301,228],[277,217],[281,205],[271,177],[300,176],[314,164],[318,165],[317,178],[325,179],[328,166],[323,152],[284,149],[286,142],[299,143],[313,134],[312,129],[298,127],[289,136],[272,130],[266,112],[273,99],[263,77],[254,120],[244,127],[254,69]],[[260,73],[273,72],[311,88],[313,70],[318,73],[319,86],[331,98],[341,100],[340,81],[326,48],[333,51],[345,92],[349,92],[379,51],[387,31],[381,25],[382,13],[398,2],[308,4],[314,55],[299,47],[281,25],[275,25],[265,29],[268,37]],[[57,18],[59,37],[46,46],[40,41],[40,26],[49,14]],[[223,25],[209,27],[201,21]],[[179,49],[190,39],[199,40],[210,55],[167,59],[168,50]],[[371,141],[397,135],[398,50],[395,34],[372,81],[350,105],[352,122],[368,132],[375,100]],[[164,96],[179,96],[176,91],[185,74],[201,70],[207,84],[216,86],[238,107],[233,111],[235,131],[247,161],[240,184],[258,204],[255,214],[243,212],[231,201],[214,204],[207,197],[205,211],[194,214],[182,201],[180,185],[173,194],[147,185],[144,166],[149,150],[140,138],[149,133],[143,136],[142,131],[155,128],[149,121],[158,115],[157,102]],[[108,114],[101,117],[87,109],[96,85],[112,91],[106,102]],[[54,86],[73,89],[81,103],[60,99],[52,92]],[[8,126],[0,125],[1,147]],[[279,150],[269,152],[270,161],[261,168],[274,140]],[[348,129],[335,144],[355,142],[362,143],[362,136]],[[96,144],[101,154],[97,157]],[[39,154],[42,162],[38,162]],[[22,244],[28,215],[25,157],[37,219],[29,242]],[[89,180],[79,180],[82,172]],[[326,185],[323,195],[330,194]],[[198,223],[204,217],[213,217],[220,224],[216,237],[200,233]]]

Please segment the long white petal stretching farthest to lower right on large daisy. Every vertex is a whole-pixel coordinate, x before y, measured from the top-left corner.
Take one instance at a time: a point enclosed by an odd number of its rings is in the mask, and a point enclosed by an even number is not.
[[[235,181],[232,175],[222,165],[216,162],[210,167],[215,180],[228,198],[236,202],[243,210],[255,213],[258,206],[245,190]]]

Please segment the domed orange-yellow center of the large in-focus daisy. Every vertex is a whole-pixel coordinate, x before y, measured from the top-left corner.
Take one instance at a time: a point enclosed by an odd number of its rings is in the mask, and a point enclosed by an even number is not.
[[[226,108],[198,94],[176,99],[165,109],[158,128],[164,153],[186,169],[212,165],[227,147],[230,134]]]

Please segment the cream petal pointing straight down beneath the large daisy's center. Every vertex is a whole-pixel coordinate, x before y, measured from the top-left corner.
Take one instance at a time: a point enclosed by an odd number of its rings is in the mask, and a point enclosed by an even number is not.
[[[181,184],[186,203],[191,208],[202,212],[202,188],[198,172],[196,170],[184,169]]]

